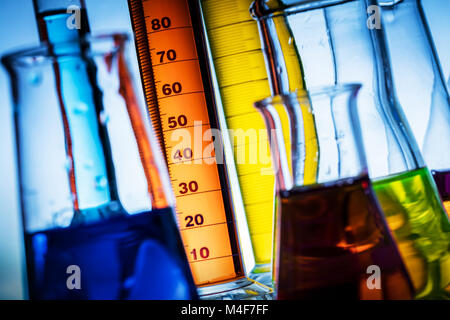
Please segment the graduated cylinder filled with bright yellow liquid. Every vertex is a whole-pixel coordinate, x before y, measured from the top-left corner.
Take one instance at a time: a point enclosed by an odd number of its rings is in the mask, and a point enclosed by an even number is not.
[[[252,1],[199,2],[226,127],[229,132],[256,136],[253,142],[230,133],[231,151],[255,255],[250,276],[270,285],[275,177],[264,121],[253,103],[271,92],[258,25],[248,11]],[[255,154],[257,159],[252,158]]]

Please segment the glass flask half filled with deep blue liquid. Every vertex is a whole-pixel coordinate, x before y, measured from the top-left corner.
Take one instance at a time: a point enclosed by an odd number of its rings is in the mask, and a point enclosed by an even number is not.
[[[126,36],[3,57],[32,299],[195,299],[167,168]]]

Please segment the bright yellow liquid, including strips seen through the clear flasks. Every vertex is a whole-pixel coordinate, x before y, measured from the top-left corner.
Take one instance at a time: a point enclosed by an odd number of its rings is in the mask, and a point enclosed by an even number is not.
[[[234,156],[257,265],[268,266],[272,258],[274,175],[266,126],[253,103],[272,93],[267,77],[257,22],[250,16],[253,0],[202,0],[202,10],[219,83],[228,129],[255,130],[257,143],[234,140]],[[284,20],[275,19],[282,40],[283,59],[288,72],[289,91],[303,90],[303,75],[293,38]],[[278,93],[278,92],[277,92]],[[305,183],[313,183],[317,173],[318,146],[312,113],[302,105],[305,124]],[[288,121],[287,117],[281,119]],[[283,125],[283,128],[289,126]],[[250,131],[248,131],[250,130]],[[289,141],[289,132],[283,132]],[[249,134],[250,135],[250,134]],[[290,145],[286,144],[290,153]],[[255,153],[258,161],[254,160]],[[252,158],[253,157],[253,158]],[[256,162],[256,163],[255,163]],[[259,272],[268,271],[268,267]],[[258,272],[258,269],[255,270]]]

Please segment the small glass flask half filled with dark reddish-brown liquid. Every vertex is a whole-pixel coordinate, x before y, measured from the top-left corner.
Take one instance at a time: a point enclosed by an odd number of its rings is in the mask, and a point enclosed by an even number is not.
[[[359,88],[344,84],[255,103],[270,135],[277,179],[273,269],[278,299],[412,297],[368,177],[356,118]],[[317,132],[314,141],[307,141],[306,114]],[[317,145],[314,183],[302,169],[309,143]]]

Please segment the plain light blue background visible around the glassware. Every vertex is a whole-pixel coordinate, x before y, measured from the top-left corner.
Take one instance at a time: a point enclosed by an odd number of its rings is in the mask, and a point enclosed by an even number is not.
[[[423,2],[445,78],[450,82],[450,1]],[[131,33],[126,0],[86,0],[86,6],[92,33]],[[0,0],[0,55],[36,44],[32,0]],[[137,66],[132,67],[137,74]],[[26,297],[14,144],[9,79],[0,67],[0,299]]]

